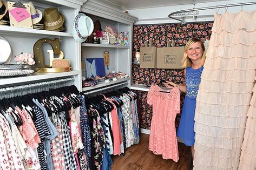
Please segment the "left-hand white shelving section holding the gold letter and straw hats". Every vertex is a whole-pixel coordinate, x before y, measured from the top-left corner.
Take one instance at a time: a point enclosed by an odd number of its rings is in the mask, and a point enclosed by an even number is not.
[[[17,0],[14,1],[17,2]],[[22,3],[25,3],[26,1],[27,0],[22,1]],[[74,40],[71,31],[73,21],[80,11],[81,5],[86,2],[86,0],[32,0],[32,2],[36,9],[41,10],[42,13],[46,8],[57,8],[65,17],[64,25],[67,27],[67,30],[65,30],[65,32],[58,32],[0,25],[0,36],[8,40],[12,49],[12,58],[9,64],[15,64],[14,57],[21,52],[29,52],[33,54],[33,47],[38,39],[60,38],[60,47],[61,51],[64,53],[64,59],[69,60],[73,71],[60,73],[34,73],[29,74],[28,76],[0,78],[0,88],[73,76],[75,78],[77,89],[81,91],[81,44]],[[49,44],[45,43],[43,44],[45,65],[49,64],[47,63],[49,62],[49,54],[47,53],[47,50],[52,50],[52,48]]]

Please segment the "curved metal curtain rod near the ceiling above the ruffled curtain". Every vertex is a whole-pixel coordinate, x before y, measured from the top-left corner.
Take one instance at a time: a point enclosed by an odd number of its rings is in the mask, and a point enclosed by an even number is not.
[[[200,11],[200,10],[207,10],[207,9],[217,9],[217,8],[228,8],[228,7],[233,7],[233,6],[244,6],[244,5],[254,5],[256,2],[247,2],[247,3],[236,3],[236,4],[226,4],[226,5],[216,5],[216,6],[207,6],[207,7],[201,7],[201,8],[193,8],[193,9],[187,9],[187,10],[180,10],[176,12],[172,12],[168,15],[169,18],[175,19],[180,21],[182,24],[185,24],[185,19],[178,19],[172,17],[172,15],[176,13],[181,13],[181,12],[190,12],[190,11]]]

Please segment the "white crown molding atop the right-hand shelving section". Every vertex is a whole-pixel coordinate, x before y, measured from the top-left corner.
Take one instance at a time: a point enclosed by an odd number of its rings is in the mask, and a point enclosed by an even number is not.
[[[81,11],[124,24],[133,24],[137,20],[136,17],[124,13],[113,6],[102,4],[94,0],[88,0],[84,3],[81,7]]]

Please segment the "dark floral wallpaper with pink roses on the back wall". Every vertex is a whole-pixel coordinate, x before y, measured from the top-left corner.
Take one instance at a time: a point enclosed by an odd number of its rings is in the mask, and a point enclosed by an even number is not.
[[[151,40],[153,46],[165,47],[169,40],[174,40],[175,46],[185,46],[190,38],[199,38],[203,42],[209,39],[212,33],[213,22],[187,23],[187,24],[157,24],[157,25],[134,25],[133,28],[133,60],[135,52],[140,52],[146,40]],[[185,84],[183,70],[170,69],[140,69],[140,65],[132,65],[133,83],[135,84],[158,84],[161,79]],[[147,92],[136,91],[139,95],[141,128],[150,130],[152,119],[152,107],[147,104]],[[185,94],[181,93],[181,103]],[[181,108],[182,108],[181,105]],[[175,126],[178,128],[180,114],[177,115]]]

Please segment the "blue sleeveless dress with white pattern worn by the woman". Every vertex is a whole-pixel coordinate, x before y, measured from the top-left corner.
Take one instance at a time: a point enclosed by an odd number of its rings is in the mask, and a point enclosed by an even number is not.
[[[203,66],[199,69],[192,69],[192,67],[187,67],[186,69],[187,93],[182,108],[181,120],[177,135],[183,139],[184,144],[187,146],[193,146],[195,142],[195,100],[196,96],[198,95],[198,87],[201,82],[201,74],[203,69]]]

